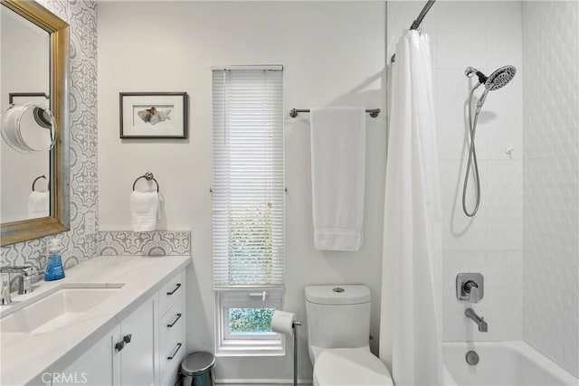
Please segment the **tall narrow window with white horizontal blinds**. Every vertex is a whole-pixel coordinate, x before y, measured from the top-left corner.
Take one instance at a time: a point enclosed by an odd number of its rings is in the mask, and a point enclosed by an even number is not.
[[[216,352],[281,354],[271,333],[284,271],[282,71],[214,70]]]

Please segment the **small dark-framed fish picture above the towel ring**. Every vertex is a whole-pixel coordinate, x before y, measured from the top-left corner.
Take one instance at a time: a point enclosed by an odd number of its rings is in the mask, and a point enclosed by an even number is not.
[[[187,137],[186,92],[119,92],[121,138]]]

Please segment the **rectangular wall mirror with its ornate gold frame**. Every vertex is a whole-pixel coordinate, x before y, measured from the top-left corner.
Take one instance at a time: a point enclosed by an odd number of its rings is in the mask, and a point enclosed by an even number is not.
[[[0,245],[70,225],[69,25],[0,0]]]

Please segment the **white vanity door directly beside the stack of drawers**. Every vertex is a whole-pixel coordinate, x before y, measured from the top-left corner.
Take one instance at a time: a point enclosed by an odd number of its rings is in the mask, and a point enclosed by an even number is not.
[[[120,323],[120,381],[123,386],[155,383],[155,302],[151,297]]]

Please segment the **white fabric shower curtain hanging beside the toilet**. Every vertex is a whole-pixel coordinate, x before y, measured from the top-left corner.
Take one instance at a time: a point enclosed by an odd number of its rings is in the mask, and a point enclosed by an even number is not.
[[[441,201],[430,43],[396,45],[384,196],[380,358],[396,385],[443,384]]]

